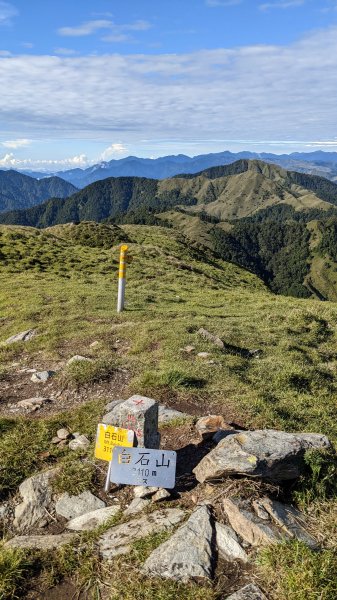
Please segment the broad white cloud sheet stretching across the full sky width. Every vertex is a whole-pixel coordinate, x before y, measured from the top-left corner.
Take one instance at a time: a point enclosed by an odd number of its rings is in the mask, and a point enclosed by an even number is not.
[[[333,140],[337,27],[288,46],[0,59],[6,137]]]

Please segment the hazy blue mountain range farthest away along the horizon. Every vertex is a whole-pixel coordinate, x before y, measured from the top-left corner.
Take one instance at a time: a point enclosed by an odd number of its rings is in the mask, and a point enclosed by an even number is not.
[[[323,152],[321,150],[281,155],[266,152],[233,153],[224,151],[194,157],[178,154],[155,159],[128,156],[119,160],[100,162],[87,169],[70,169],[58,173],[49,173],[49,175],[57,175],[77,188],[83,188],[90,183],[107,177],[166,179],[180,173],[198,173],[209,167],[227,165],[240,159],[263,160],[264,162],[280,165],[284,169],[319,175],[337,181],[337,152]],[[26,173],[36,178],[46,176],[46,173],[35,173],[34,171],[27,171]]]

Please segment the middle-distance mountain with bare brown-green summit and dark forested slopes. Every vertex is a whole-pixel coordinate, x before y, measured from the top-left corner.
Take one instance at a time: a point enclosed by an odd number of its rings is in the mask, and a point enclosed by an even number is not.
[[[337,184],[241,159],[163,180],[107,178],[69,198],[0,214],[0,223],[138,223],[256,273],[278,293],[337,300]]]

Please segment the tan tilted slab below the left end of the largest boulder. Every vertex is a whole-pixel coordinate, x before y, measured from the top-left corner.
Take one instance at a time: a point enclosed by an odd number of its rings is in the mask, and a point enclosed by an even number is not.
[[[228,520],[236,533],[251,546],[266,546],[281,541],[278,530],[229,498],[223,501]]]

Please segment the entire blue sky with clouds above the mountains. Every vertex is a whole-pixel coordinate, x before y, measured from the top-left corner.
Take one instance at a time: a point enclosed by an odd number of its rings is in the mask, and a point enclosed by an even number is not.
[[[337,151],[337,0],[0,0],[0,168]]]

